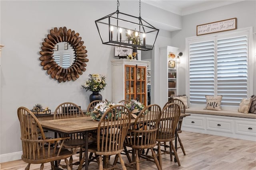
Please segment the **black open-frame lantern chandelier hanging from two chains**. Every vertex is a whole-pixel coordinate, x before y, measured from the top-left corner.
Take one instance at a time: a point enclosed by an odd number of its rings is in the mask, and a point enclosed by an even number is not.
[[[119,6],[117,0],[116,12],[95,21],[102,43],[143,51],[152,50],[159,29],[143,20],[140,15],[135,17],[119,12]]]

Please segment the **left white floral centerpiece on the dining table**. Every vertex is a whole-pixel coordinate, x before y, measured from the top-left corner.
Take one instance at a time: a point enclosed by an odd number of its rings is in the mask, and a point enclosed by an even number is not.
[[[116,104],[109,102],[108,100],[106,100],[105,102],[99,102],[98,104],[96,104],[96,106],[93,108],[93,111],[90,111],[86,114],[89,114],[92,117],[92,120],[94,121],[100,121],[100,118],[102,117],[102,115],[105,113],[105,111],[110,108],[111,106],[114,106]],[[107,116],[111,116],[111,117],[116,117],[118,118],[119,115],[107,115]],[[106,117],[107,118],[107,117]]]

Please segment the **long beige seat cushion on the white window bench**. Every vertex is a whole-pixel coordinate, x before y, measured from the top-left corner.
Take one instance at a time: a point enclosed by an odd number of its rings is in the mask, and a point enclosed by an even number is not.
[[[238,111],[231,111],[231,110],[204,110],[204,109],[197,109],[197,108],[188,108],[185,111],[186,113],[195,113],[195,114],[205,114],[205,115],[219,115],[219,116],[231,116],[231,117],[244,117],[244,118],[251,118],[256,119],[256,114],[253,113],[240,113]]]

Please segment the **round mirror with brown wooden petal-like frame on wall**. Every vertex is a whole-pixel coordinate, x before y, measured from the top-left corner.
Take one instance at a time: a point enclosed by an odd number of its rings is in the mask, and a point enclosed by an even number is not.
[[[87,50],[79,33],[54,27],[42,43],[41,65],[58,82],[76,80],[86,70]]]

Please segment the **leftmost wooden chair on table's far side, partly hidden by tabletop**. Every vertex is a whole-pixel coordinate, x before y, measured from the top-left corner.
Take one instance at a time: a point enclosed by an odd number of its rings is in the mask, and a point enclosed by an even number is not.
[[[62,104],[60,104],[59,106],[56,107],[55,111],[54,111],[54,119],[69,119],[69,118],[75,118],[75,117],[84,117],[84,113],[82,111],[82,109],[71,102],[64,102]],[[79,161],[74,162],[73,163],[73,158],[72,155],[70,156],[69,159],[69,164],[70,167],[72,168],[73,165],[80,165],[83,164],[83,160],[82,160],[82,152],[83,149],[82,147],[85,146],[85,137],[83,133],[73,133],[70,135],[65,135],[62,133],[59,133],[60,137],[70,137],[70,140],[66,140],[64,142],[64,147],[71,149],[71,151],[73,152],[73,154],[76,154],[76,149],[79,148]],[[93,140],[88,141],[88,143],[92,143],[94,142]],[[62,166],[62,168],[66,168],[65,165],[60,165]],[[82,168],[82,166],[79,166],[79,168]]]

